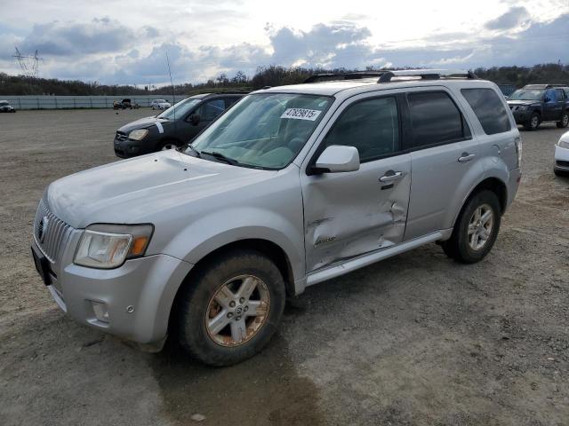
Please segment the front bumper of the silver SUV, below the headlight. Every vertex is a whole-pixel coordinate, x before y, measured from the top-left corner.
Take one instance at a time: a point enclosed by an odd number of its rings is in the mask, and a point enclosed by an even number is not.
[[[101,270],[68,260],[60,271],[50,271],[52,280],[47,286],[63,312],[81,324],[132,342],[164,341],[174,296],[192,264],[153,255]],[[97,316],[97,304],[108,313],[106,320]]]

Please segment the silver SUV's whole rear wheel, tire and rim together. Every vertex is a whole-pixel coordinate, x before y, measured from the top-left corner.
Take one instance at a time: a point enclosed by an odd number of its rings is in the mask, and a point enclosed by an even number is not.
[[[464,264],[481,261],[493,248],[501,222],[501,207],[492,191],[474,194],[456,220],[453,234],[443,243],[447,256]]]

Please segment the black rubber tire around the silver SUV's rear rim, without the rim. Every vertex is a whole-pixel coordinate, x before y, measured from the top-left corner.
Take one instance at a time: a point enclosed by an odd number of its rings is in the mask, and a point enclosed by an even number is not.
[[[469,225],[475,210],[481,206],[489,206],[493,210],[493,225],[484,246],[474,249],[469,243]],[[493,248],[500,230],[500,223],[501,207],[496,194],[489,190],[474,193],[462,208],[454,224],[451,238],[442,244],[446,255],[463,264],[475,264],[481,261]]]

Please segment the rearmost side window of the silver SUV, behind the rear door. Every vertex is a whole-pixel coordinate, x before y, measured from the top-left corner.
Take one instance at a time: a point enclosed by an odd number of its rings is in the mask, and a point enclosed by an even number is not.
[[[511,130],[506,108],[492,89],[462,89],[462,96],[469,102],[486,135]]]

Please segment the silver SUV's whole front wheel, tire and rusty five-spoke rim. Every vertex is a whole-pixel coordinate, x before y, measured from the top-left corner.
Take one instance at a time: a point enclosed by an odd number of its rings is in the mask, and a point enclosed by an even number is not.
[[[218,256],[180,295],[180,343],[204,364],[251,358],[274,335],[284,310],[284,280],[268,257],[252,250]]]

